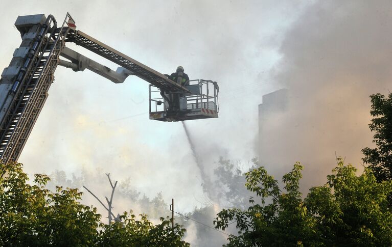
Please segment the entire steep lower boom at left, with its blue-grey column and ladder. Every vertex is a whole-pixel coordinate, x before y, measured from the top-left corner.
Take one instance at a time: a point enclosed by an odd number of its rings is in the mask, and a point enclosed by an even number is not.
[[[19,16],[22,43],[0,81],[0,162],[16,161],[48,97],[72,17],[60,28],[49,15]],[[73,21],[73,20],[72,20]]]

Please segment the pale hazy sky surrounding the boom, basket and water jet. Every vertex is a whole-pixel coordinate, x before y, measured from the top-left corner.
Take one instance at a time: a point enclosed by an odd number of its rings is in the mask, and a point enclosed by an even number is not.
[[[219,119],[187,122],[211,172],[220,155],[245,164],[257,155],[257,107],[263,94],[279,88],[269,69],[281,57],[283,34],[307,4],[3,1],[0,67],[8,66],[20,44],[13,25],[18,15],[53,14],[62,22],[70,12],[79,30],[161,73],[182,65],[191,79],[216,80],[221,89]],[[79,48],[75,49],[105,62]],[[181,123],[149,120],[147,113],[145,81],[129,77],[115,85],[87,70],[58,67],[19,161],[30,174],[99,170],[117,180],[131,177],[142,193],[163,191],[168,203],[175,198],[179,210],[200,206],[200,173]]]

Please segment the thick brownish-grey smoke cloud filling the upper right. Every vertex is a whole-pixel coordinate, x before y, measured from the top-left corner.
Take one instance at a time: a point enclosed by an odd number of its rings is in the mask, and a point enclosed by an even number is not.
[[[287,32],[273,76],[290,91],[289,109],[270,116],[261,136],[276,178],[298,160],[303,185],[318,185],[335,153],[361,169],[360,151],[372,145],[368,96],[387,94],[392,79],[391,11],[390,1],[320,1]]]

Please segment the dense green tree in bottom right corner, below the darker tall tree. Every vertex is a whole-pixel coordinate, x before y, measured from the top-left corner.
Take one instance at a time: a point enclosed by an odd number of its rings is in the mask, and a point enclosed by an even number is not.
[[[325,236],[326,245],[391,246],[392,214],[387,196],[392,182],[378,183],[370,169],[356,176],[354,167],[338,161],[334,174],[327,176],[327,185],[312,188],[305,199],[317,219],[319,235]]]

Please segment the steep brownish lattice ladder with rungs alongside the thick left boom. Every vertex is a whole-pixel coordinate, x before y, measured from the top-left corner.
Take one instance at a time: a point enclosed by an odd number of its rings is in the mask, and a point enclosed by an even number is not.
[[[43,25],[44,32],[20,81],[15,81],[10,107],[0,123],[0,162],[16,161],[24,148],[30,132],[48,97],[54,80],[64,38],[70,30],[65,25],[72,18],[67,14],[61,28],[49,16]],[[52,25],[52,26],[51,26]]]

